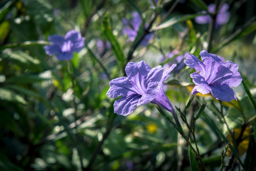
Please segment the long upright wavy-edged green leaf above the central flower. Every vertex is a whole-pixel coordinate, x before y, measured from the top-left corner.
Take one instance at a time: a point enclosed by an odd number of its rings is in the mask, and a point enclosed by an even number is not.
[[[115,35],[113,35],[111,26],[110,26],[108,13],[105,14],[105,17],[103,19],[103,32],[104,32],[105,36],[107,37],[107,39],[109,40],[109,42],[111,43],[111,47],[112,47],[113,52],[115,53],[117,62],[119,63],[120,67],[123,70],[123,68],[125,66],[124,53],[120,47],[120,44],[117,42]]]

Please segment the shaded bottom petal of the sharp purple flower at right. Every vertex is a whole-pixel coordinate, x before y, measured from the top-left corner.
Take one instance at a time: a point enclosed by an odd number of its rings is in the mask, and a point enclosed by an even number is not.
[[[232,88],[227,86],[227,84],[222,84],[222,85],[211,85],[212,88],[211,92],[212,95],[217,99],[217,100],[222,100],[222,101],[231,101],[231,100],[237,100],[237,96],[235,95],[235,92],[233,91]]]

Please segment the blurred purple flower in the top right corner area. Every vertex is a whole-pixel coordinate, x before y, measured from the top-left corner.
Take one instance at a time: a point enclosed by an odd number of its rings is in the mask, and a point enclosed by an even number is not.
[[[216,27],[219,27],[220,25],[225,25],[229,21],[229,5],[227,3],[224,3],[224,5],[221,6],[220,10],[218,11],[218,14],[216,16]],[[210,14],[214,14],[216,11],[216,5],[211,3],[208,6],[208,11]],[[205,15],[201,15],[195,18],[195,21],[198,24],[206,24],[210,23],[212,21],[212,17],[206,13],[206,11],[202,11]]]

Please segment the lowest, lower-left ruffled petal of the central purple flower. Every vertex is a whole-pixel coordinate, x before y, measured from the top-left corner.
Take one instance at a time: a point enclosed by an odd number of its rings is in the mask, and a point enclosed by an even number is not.
[[[120,97],[114,103],[114,112],[117,113],[117,115],[127,116],[128,114],[132,113],[134,109],[137,107],[140,98],[140,95]]]

